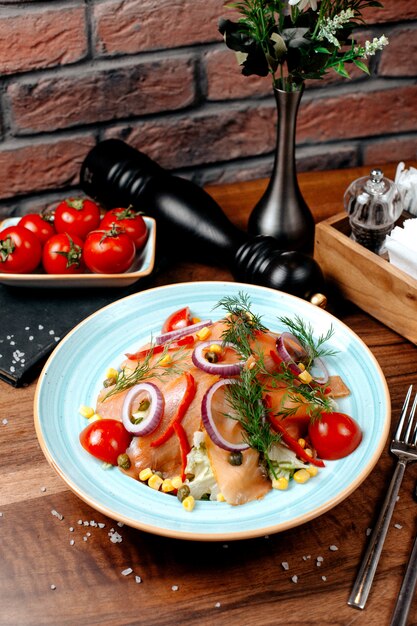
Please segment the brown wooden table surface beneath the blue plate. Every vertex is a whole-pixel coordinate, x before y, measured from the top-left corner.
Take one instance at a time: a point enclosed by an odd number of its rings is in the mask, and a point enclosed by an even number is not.
[[[392,176],[394,167],[384,170]],[[347,185],[367,171],[300,175],[316,220],[342,210]],[[256,181],[209,191],[232,221],[244,226],[264,187],[265,181]],[[232,277],[226,269],[181,263],[156,276],[154,285],[214,279]],[[395,421],[408,385],[417,383],[417,347],[352,304],[336,303],[335,312],[379,361]],[[67,489],[48,466],[36,440],[35,386],[33,382],[14,389],[0,382],[2,626],[389,624],[417,531],[415,467],[406,472],[373,589],[361,612],[346,601],[367,529],[375,522],[394,467],[387,450],[347,500],[301,527],[228,544],[161,538],[119,528]],[[58,519],[52,510],[64,518]],[[80,526],[78,520],[94,520],[105,527]],[[121,543],[109,540],[111,528],[120,533]],[[330,550],[331,545],[338,550]],[[319,556],[323,557],[321,566],[317,565]],[[288,562],[288,570],[283,562]],[[126,568],[133,573],[124,576]],[[294,575],[297,583],[292,581]],[[417,624],[417,602],[410,623]]]

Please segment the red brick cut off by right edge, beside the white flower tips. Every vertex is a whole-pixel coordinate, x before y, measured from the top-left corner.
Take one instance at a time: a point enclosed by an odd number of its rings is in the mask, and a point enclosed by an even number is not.
[[[417,26],[391,31],[379,63],[381,76],[417,76]]]

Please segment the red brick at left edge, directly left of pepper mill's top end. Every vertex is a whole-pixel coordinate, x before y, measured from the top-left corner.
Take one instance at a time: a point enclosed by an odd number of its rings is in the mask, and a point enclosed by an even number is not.
[[[76,184],[92,136],[0,145],[0,198]]]

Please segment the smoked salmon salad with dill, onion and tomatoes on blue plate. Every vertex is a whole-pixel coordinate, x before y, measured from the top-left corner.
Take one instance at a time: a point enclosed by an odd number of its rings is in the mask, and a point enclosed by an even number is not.
[[[327,342],[297,315],[266,328],[239,292],[219,319],[174,311],[148,344],[106,372],[95,407],[80,411],[85,450],[187,511],[199,500],[241,505],[326,471],[361,443],[338,411],[350,394],[329,375]]]

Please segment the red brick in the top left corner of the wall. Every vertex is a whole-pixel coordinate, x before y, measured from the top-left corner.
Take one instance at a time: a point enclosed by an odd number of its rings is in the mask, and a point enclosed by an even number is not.
[[[4,12],[0,17],[0,74],[67,65],[84,58],[86,53],[82,6],[26,7]]]

